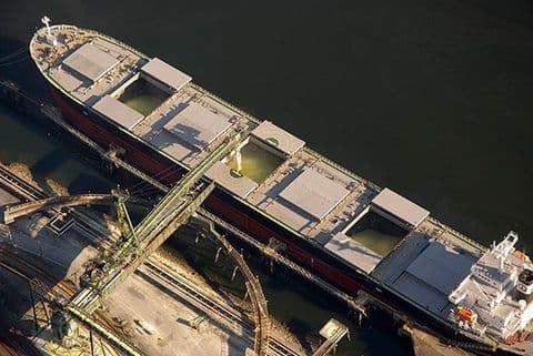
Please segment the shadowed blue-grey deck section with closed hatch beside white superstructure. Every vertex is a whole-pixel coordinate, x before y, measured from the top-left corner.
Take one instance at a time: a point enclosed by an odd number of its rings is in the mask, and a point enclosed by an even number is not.
[[[376,266],[372,276],[446,319],[452,307],[447,296],[470,273],[482,248],[428,218]]]

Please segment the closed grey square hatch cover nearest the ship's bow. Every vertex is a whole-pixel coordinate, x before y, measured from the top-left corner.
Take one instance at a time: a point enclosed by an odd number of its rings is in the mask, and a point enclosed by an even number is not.
[[[119,60],[88,42],[67,57],[62,64],[95,82],[105,72],[119,63]]]

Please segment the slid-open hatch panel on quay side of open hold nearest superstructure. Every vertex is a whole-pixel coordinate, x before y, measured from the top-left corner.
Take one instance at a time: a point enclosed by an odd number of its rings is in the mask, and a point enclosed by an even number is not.
[[[383,260],[382,256],[362,244],[353,241],[352,237],[338,233],[324,247],[349,264],[363,269],[366,273],[372,272],[374,267]]]

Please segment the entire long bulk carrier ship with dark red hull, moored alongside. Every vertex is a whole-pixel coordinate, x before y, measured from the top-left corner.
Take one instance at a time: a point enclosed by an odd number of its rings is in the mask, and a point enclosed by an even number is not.
[[[171,185],[247,132],[204,180],[203,207],[342,291],[364,289],[483,355],[533,355],[533,264],[510,232],[490,248],[312,151],[304,141],[113,38],[38,30],[30,53],[63,119]]]

